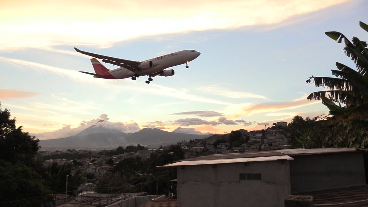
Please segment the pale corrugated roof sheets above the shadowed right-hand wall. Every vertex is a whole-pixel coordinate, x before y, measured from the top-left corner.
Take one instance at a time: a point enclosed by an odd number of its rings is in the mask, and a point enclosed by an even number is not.
[[[284,155],[312,155],[312,154],[327,154],[327,153],[341,153],[341,152],[359,152],[361,149],[357,148],[316,148],[316,149],[287,149],[287,150],[276,150],[283,153]]]

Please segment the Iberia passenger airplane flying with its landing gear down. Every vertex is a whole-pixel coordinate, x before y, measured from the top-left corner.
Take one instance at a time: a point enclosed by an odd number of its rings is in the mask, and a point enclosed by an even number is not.
[[[95,78],[106,79],[124,79],[131,77],[132,80],[136,80],[139,76],[148,76],[148,80],[146,80],[147,84],[149,84],[150,81],[153,80],[152,77],[155,76],[173,76],[175,74],[174,70],[164,70],[168,67],[173,67],[185,63],[187,64],[185,67],[188,68],[188,63],[201,55],[200,52],[197,52],[195,50],[180,50],[178,52],[169,53],[140,62],[98,55],[95,53],[79,50],[78,48],[74,49],[79,53],[95,57],[91,59],[93,69],[95,69],[95,73],[79,71],[81,73],[93,75],[93,77]],[[109,70],[105,66],[103,66],[96,58],[103,59],[102,62],[110,63],[120,67],[117,69]]]

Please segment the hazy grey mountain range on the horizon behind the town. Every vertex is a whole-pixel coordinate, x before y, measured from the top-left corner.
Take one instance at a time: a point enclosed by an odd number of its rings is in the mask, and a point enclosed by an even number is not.
[[[106,129],[101,125],[92,125],[74,136],[40,140],[39,145],[42,148],[107,149],[140,144],[154,148],[160,145],[166,146],[176,144],[179,141],[189,141],[190,139],[194,140],[210,136],[210,133],[203,134],[199,131],[194,131],[197,134],[188,134],[183,133],[184,131],[185,129],[180,127],[172,132],[144,128],[135,133],[124,133],[116,129]]]

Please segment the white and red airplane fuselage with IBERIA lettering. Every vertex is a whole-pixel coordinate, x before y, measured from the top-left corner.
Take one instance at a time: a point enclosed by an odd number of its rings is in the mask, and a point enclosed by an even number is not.
[[[99,78],[123,79],[137,76],[137,74],[139,76],[149,76],[150,74],[155,74],[160,71],[163,71],[166,68],[188,63],[197,58],[200,54],[201,53],[195,50],[181,50],[178,52],[142,61],[142,62],[152,61],[153,67],[149,69],[138,70],[137,73],[134,73],[133,71],[127,68],[119,67],[117,69],[109,70],[108,74],[107,73],[102,74],[102,76],[100,76]]]

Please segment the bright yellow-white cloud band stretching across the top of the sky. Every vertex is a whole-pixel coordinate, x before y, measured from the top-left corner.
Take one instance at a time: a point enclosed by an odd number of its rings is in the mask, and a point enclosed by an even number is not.
[[[148,0],[107,0],[104,4],[14,0],[1,3],[0,50],[61,44],[108,47],[142,34],[272,25],[346,1],[163,0],[158,6]],[[188,9],[188,5],[195,6]],[[128,9],[122,13],[121,8]]]

